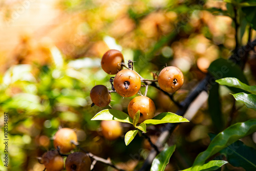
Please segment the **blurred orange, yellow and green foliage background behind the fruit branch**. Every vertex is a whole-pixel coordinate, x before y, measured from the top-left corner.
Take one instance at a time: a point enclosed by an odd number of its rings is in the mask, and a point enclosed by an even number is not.
[[[100,67],[101,57],[109,49],[120,50],[125,61],[136,61],[134,70],[148,79],[166,65],[178,67],[185,81],[174,98],[182,101],[204,78],[210,62],[228,58],[235,47],[232,19],[212,12],[214,8],[226,10],[226,4],[214,0],[0,1],[0,126],[7,112],[8,170],[43,170],[36,157],[53,148],[51,138],[59,127],[75,129],[87,151],[110,157],[126,170],[139,167],[150,151],[142,137],[126,147],[123,137],[132,129],[129,125],[122,125],[122,137],[109,141],[102,137],[100,122],[90,121],[102,110],[91,108],[90,90],[96,84],[111,89],[111,76]],[[248,28],[239,36],[245,45]],[[256,37],[255,31],[252,37]],[[245,67],[250,85],[256,84],[255,65],[255,58],[250,58]],[[221,92],[223,115],[228,118],[233,98],[225,87]],[[154,100],[157,113],[178,109],[152,87],[147,95]],[[181,124],[170,138],[177,149],[166,170],[189,167],[208,145],[207,133],[217,132],[207,97],[207,93],[201,96],[186,115],[191,122]],[[131,99],[113,93],[111,107],[127,112]],[[233,122],[256,117],[242,103],[237,105],[241,109]],[[149,127],[148,132],[156,140],[161,125]],[[0,134],[2,137],[3,129]],[[245,142],[256,147],[256,135]],[[0,155],[2,159],[2,145]],[[0,170],[7,170],[2,160]],[[113,169],[97,163],[95,170]]]

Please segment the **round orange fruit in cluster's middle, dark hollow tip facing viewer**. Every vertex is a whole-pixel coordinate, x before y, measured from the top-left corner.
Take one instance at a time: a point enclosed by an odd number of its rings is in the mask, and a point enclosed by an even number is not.
[[[125,88],[125,82],[129,86]],[[114,78],[114,88],[123,97],[131,97],[138,93],[141,87],[140,76],[133,70],[121,70]]]

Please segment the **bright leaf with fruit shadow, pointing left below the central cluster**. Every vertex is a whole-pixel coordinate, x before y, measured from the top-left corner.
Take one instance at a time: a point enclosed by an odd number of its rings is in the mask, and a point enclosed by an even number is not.
[[[102,110],[97,113],[91,120],[116,120],[119,122],[133,124],[133,119],[129,115],[114,109]]]

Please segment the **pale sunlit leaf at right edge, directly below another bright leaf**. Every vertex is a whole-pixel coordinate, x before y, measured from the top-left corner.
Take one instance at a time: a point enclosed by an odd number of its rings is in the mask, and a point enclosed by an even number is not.
[[[237,93],[232,95],[237,101],[243,102],[247,108],[251,108],[256,111],[256,95],[255,94]]]

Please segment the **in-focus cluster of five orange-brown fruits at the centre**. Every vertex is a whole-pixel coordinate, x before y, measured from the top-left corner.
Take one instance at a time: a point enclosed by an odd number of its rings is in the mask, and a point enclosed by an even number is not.
[[[116,74],[114,80],[110,79],[112,83],[112,91],[115,91],[123,97],[131,97],[137,94],[141,88],[143,78],[134,70],[132,70],[133,62],[129,60],[129,69],[122,70],[125,66],[123,55],[120,51],[109,50],[101,60],[102,69],[108,74]],[[127,68],[127,67],[126,67]],[[174,93],[179,90],[184,81],[182,72],[177,67],[165,67],[156,80],[159,87],[168,93]],[[110,104],[110,91],[103,85],[93,87],[90,93],[93,105],[104,107]],[[131,100],[128,105],[128,113],[134,118],[134,115],[140,111],[140,119],[138,123],[146,119],[152,119],[155,115],[156,107],[150,98],[146,96],[137,96]]]

